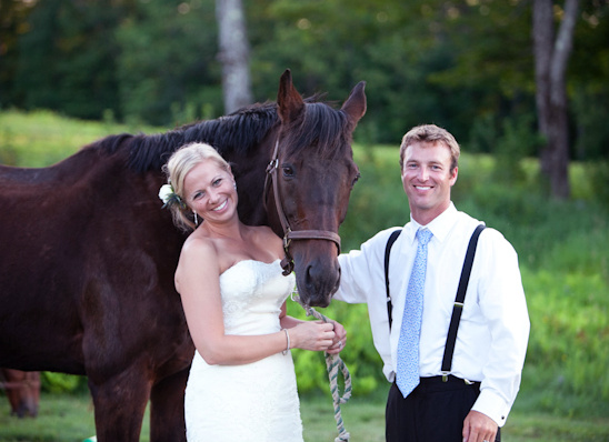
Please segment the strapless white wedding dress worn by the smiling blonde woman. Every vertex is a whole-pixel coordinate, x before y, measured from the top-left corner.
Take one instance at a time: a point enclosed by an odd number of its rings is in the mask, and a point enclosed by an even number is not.
[[[240,261],[220,275],[227,334],[281,330],[281,304],[294,288],[273,263]],[[184,398],[189,442],[302,442],[290,352],[243,365],[208,365],[196,352]]]

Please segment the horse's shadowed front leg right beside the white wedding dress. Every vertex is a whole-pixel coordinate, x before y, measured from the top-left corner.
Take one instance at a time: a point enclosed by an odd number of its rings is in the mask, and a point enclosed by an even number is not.
[[[189,369],[152,386],[150,442],[186,442],[184,390]]]

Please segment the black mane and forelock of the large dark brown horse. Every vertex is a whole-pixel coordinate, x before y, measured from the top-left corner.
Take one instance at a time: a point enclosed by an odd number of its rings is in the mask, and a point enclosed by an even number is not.
[[[287,128],[286,147],[290,152],[317,145],[321,155],[337,153],[347,133],[343,112],[318,101],[320,94],[306,99],[304,119]],[[129,167],[138,172],[160,170],[180,147],[200,141],[213,145],[220,154],[247,154],[279,123],[277,103],[264,102],[240,109],[214,120],[199,121],[157,134],[118,134],[106,137],[90,145],[100,153],[127,150]],[[290,152],[287,152],[288,154]]]

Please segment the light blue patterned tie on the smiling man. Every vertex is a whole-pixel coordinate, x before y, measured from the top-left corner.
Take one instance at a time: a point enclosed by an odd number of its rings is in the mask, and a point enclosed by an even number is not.
[[[402,327],[398,341],[397,384],[406,398],[419,384],[419,335],[423,313],[425,273],[427,270],[427,243],[432,233],[427,229],[417,231],[419,245],[408,281]]]

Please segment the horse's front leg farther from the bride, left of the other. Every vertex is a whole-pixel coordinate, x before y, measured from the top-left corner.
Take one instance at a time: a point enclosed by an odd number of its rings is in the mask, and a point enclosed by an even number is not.
[[[128,371],[94,384],[89,380],[98,442],[138,442],[150,396],[150,381],[143,371]]]

